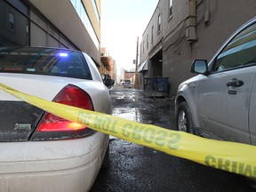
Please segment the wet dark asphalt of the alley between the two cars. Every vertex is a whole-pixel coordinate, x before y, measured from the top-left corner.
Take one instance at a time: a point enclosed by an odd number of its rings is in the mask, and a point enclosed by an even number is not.
[[[144,92],[134,89],[114,88],[110,93],[113,116],[175,130],[174,100],[146,98]],[[108,169],[100,170],[91,192],[250,192],[256,190],[255,183],[240,175],[112,138]]]

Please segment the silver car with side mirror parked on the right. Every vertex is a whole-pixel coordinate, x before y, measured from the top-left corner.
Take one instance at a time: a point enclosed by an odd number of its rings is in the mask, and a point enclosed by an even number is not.
[[[239,28],[199,74],[180,84],[175,112],[180,131],[256,144],[256,18]]]

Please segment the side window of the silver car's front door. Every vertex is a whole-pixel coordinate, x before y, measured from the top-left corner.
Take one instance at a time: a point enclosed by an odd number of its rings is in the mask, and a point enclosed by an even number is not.
[[[217,56],[212,72],[256,64],[256,24],[245,28]]]

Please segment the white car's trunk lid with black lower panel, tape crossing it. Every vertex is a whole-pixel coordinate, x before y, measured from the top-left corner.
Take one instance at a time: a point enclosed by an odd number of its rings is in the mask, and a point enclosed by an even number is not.
[[[1,84],[44,100],[53,100],[68,83],[76,84],[79,81],[75,78],[67,80],[67,77],[60,76],[0,74]],[[43,115],[44,110],[0,90],[0,142],[25,141],[30,138],[36,140],[32,135]]]

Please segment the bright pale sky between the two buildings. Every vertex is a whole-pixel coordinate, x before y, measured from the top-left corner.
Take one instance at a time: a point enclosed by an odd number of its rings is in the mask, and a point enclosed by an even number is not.
[[[135,68],[132,60],[136,59],[137,36],[142,36],[147,28],[158,0],[101,0],[100,3],[101,47],[106,47],[116,60],[117,73],[120,68]]]

